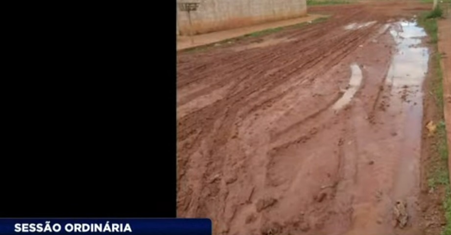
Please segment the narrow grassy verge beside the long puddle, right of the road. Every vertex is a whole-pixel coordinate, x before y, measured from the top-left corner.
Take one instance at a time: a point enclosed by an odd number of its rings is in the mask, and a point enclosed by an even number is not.
[[[438,9],[438,10],[437,10]],[[437,187],[445,188],[445,195],[443,198],[443,207],[445,210],[446,221],[448,221],[446,227],[442,231],[442,235],[451,235],[451,186],[449,180],[448,169],[448,144],[446,136],[446,126],[443,116],[444,110],[444,98],[443,98],[443,73],[440,66],[441,53],[438,52],[438,25],[437,18],[442,17],[442,11],[437,8],[434,11],[426,12],[420,16],[418,23],[422,25],[427,34],[430,36],[430,43],[433,45],[433,56],[431,56],[433,64],[433,81],[432,81],[432,94],[434,95],[437,110],[440,112],[440,121],[437,123],[437,130],[434,137],[433,154],[428,172],[428,185],[431,189]]]

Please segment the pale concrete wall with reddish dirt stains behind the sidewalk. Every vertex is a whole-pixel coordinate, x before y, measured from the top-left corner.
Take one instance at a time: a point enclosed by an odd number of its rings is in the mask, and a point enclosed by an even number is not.
[[[306,0],[179,0],[199,2],[192,11],[194,34],[237,28],[307,15]],[[177,32],[189,35],[188,13],[177,8]]]

